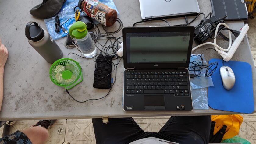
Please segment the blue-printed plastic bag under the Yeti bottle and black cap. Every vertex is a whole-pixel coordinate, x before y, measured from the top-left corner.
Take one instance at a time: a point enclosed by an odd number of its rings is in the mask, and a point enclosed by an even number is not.
[[[79,0],[66,0],[64,4],[62,5],[62,8],[60,12],[57,14],[59,16],[60,25],[64,27],[67,31],[69,31],[70,26],[75,23],[75,12],[74,7],[78,5]],[[108,5],[110,8],[115,9],[117,14],[119,12],[116,9],[116,5],[113,2],[113,0],[98,0],[99,2],[104,3],[105,5]],[[79,9],[79,8],[76,8]],[[81,12],[80,14],[85,14],[84,12]],[[95,24],[99,24],[98,21],[93,19],[93,22]],[[64,33],[62,29],[60,29],[60,33],[55,32],[55,16],[44,19],[44,23],[47,27],[48,33],[52,36],[54,40],[65,37],[67,33]]]

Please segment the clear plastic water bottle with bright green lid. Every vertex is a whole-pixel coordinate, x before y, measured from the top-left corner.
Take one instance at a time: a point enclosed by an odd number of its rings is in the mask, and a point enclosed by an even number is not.
[[[77,45],[85,58],[92,58],[96,55],[97,49],[84,22],[78,21],[74,23],[69,28],[69,34],[76,39]]]

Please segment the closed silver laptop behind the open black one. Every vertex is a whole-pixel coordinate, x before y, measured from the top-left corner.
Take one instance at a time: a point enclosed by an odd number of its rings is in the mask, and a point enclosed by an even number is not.
[[[141,19],[197,15],[197,0],[140,0]]]

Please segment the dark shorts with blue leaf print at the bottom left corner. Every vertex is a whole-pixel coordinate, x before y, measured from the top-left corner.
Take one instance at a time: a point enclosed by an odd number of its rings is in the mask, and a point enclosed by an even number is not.
[[[5,137],[2,137],[0,139],[0,143],[4,144],[32,144],[32,142],[28,139],[27,135],[25,135],[23,132],[16,131],[10,135],[7,135]]]

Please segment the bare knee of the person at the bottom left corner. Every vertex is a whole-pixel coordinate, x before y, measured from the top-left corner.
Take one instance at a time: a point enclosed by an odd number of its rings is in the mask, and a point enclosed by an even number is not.
[[[21,132],[29,138],[32,144],[44,144],[48,139],[48,131],[44,127],[35,126]]]

